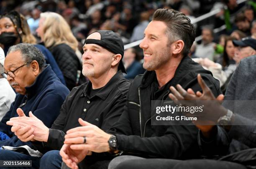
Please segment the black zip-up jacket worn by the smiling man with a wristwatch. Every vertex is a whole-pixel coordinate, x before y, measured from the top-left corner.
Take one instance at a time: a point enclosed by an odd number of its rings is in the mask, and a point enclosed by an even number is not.
[[[188,56],[179,64],[174,78],[166,85],[180,84],[184,89],[201,91],[197,82],[200,73],[215,96],[221,94],[220,83]],[[118,150],[123,154],[149,158],[189,159],[199,157],[198,130],[195,126],[153,126],[151,125],[151,84],[156,81],[154,71],[138,75],[131,84],[128,99],[118,122],[110,129],[118,141]],[[169,90],[163,90],[162,100],[170,99]]]

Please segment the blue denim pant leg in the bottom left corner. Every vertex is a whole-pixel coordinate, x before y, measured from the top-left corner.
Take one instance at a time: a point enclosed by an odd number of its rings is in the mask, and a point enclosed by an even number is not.
[[[34,156],[28,156],[26,154],[18,153],[15,151],[10,150],[0,150],[0,160],[32,160],[32,168],[38,169],[39,168],[39,161],[40,158],[34,157]],[[13,169],[17,167],[0,167],[0,169]],[[29,167],[18,167],[18,169],[31,169],[31,166]]]

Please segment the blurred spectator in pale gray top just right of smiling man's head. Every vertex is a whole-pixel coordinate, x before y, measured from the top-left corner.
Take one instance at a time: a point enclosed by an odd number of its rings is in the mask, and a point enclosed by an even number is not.
[[[208,58],[211,61],[214,60],[214,46],[215,43],[213,40],[213,31],[211,28],[203,28],[202,29],[202,42],[200,45],[197,45],[195,55],[199,58]]]

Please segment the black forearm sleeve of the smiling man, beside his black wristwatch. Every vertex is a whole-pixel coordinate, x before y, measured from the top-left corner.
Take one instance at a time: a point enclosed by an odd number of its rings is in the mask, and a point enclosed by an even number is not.
[[[169,126],[163,136],[141,138],[140,136],[126,136],[115,134],[118,150],[125,154],[138,155],[148,158],[179,158],[191,143],[196,140],[195,126]]]

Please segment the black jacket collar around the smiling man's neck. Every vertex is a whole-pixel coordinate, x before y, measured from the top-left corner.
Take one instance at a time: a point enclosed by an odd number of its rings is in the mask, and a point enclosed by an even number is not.
[[[189,70],[189,66],[191,65],[192,59],[189,58],[189,56],[184,56],[181,60],[181,62],[179,63],[179,66],[177,67],[175,73],[174,73],[174,77],[168,82],[169,85],[171,86],[171,84],[176,84],[180,78],[182,78],[185,74],[188,73]],[[148,85],[150,85],[151,83],[153,83],[153,81],[156,80],[156,72],[155,71],[146,71],[143,74],[143,78],[142,78],[142,82],[141,82],[141,88],[145,88]]]

